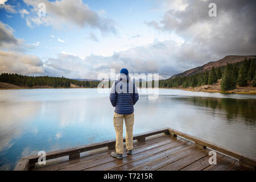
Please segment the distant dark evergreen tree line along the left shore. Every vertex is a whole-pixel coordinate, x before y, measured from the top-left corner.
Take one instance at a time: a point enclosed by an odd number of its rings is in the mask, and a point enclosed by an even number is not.
[[[54,88],[70,88],[71,84],[75,84],[84,88],[96,88],[100,81],[78,81],[64,77],[49,76],[24,76],[19,74],[2,73],[0,82],[6,82],[18,86],[51,86]]]

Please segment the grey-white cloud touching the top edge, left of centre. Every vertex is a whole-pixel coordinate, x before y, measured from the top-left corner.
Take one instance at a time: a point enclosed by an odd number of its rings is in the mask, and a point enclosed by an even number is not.
[[[82,3],[81,0],[69,1],[60,0],[49,2],[47,0],[24,0],[27,5],[31,5],[34,16],[30,16],[29,21],[35,26],[44,24],[61,28],[63,26],[73,26],[83,28],[86,26],[99,29],[102,34],[115,34],[115,23],[112,19],[103,18],[96,11],[91,10],[88,5]],[[38,17],[38,4],[46,5],[46,16]],[[36,22],[36,23],[35,23]]]

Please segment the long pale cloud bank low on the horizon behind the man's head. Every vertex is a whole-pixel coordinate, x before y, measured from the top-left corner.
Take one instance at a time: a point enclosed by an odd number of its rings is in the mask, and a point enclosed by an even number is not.
[[[85,58],[73,53],[62,52],[57,58],[44,61],[45,74],[50,76],[65,76],[68,78],[97,78],[100,73],[110,76],[110,69],[118,73],[121,68],[129,69],[130,73],[159,73],[160,76],[170,77],[172,74],[196,66],[201,60],[208,60],[195,51],[191,44],[179,46],[176,42],[166,40],[146,46],[134,47],[127,51],[115,52],[112,56],[90,55]],[[191,61],[187,61],[190,59]]]

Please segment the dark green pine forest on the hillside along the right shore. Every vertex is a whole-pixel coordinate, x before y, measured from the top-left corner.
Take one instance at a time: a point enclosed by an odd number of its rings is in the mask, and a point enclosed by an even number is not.
[[[173,88],[182,86],[196,87],[201,85],[212,85],[221,79],[221,90],[228,91],[236,89],[237,86],[246,86],[248,81],[253,81],[256,86],[256,59],[246,59],[233,64],[227,64],[222,67],[214,68],[210,71],[197,73],[187,77],[168,78],[159,81],[160,88]]]

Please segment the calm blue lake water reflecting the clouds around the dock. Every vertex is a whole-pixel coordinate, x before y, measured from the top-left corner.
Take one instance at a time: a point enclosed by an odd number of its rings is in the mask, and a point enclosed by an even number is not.
[[[159,89],[157,100],[140,94],[134,134],[171,127],[255,157],[255,111],[256,96]],[[38,151],[113,139],[113,115],[97,89],[0,90],[0,170]]]

